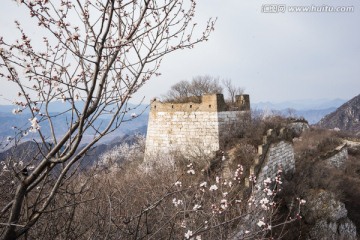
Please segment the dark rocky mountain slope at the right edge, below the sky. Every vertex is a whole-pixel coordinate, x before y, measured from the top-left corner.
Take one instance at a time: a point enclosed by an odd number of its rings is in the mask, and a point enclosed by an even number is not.
[[[318,123],[323,128],[339,128],[360,135],[360,94],[326,115]]]

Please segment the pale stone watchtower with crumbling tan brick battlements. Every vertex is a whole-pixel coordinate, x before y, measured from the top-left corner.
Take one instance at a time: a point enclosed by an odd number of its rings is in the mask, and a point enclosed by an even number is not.
[[[214,155],[222,138],[250,110],[249,95],[236,96],[229,107],[222,94],[204,95],[200,103],[151,103],[145,160],[160,155]],[[161,156],[160,156],[161,158]]]

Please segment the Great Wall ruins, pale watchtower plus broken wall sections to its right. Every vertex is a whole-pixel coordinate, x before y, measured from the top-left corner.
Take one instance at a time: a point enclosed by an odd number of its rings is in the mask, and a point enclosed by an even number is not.
[[[204,95],[200,103],[163,103],[154,100],[150,106],[145,161],[177,152],[183,156],[215,156],[223,148],[223,139],[228,132],[240,127],[239,123],[249,112],[249,95],[236,96],[231,108],[226,105],[222,94]],[[246,173],[245,186],[249,186],[249,176],[256,176],[261,182],[268,177],[274,178],[279,167],[284,172],[295,171],[294,149],[289,135],[292,132],[299,134],[303,128],[301,121],[295,121],[279,132],[268,129]],[[326,162],[329,164],[341,167],[347,158],[346,145],[339,146],[322,158],[328,159]]]

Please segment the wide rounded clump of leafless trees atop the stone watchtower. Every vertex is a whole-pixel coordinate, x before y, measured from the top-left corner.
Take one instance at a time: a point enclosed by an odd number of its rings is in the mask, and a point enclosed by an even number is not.
[[[180,81],[173,85],[164,96],[168,102],[186,102],[188,100],[200,101],[200,96],[204,94],[222,93],[223,88],[219,83],[218,77],[209,75],[197,76],[191,82]]]

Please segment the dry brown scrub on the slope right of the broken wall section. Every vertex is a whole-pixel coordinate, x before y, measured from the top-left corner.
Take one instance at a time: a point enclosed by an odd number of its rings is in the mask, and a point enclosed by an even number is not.
[[[326,153],[333,151],[343,144],[344,138],[349,137],[342,132],[312,128],[295,140],[296,172],[288,176],[284,183],[284,191],[280,196],[284,204],[280,212],[288,212],[294,196],[311,199],[314,194],[325,190],[345,203],[348,217],[356,225],[357,231],[360,230],[360,148],[348,148],[349,158],[343,168],[324,163]],[[306,220],[300,223],[286,226],[289,239],[306,238],[313,222]]]

